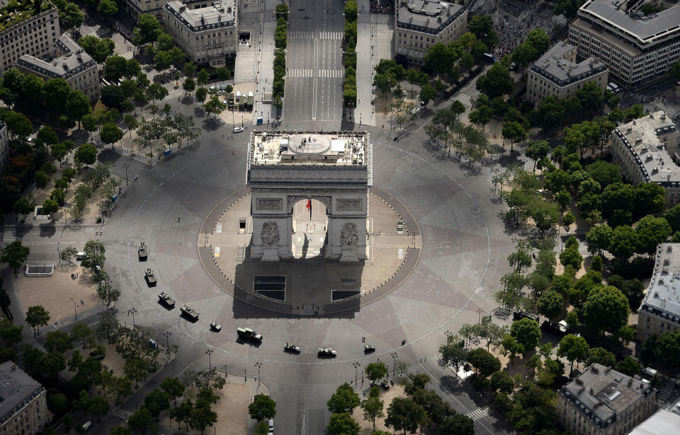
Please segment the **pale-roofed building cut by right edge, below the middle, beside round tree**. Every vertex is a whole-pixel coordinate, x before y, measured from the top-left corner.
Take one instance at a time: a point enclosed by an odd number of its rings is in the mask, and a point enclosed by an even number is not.
[[[674,280],[680,279],[680,243],[657,246],[654,272],[638,310],[636,340],[644,342],[651,335],[677,331],[680,327],[680,290]]]

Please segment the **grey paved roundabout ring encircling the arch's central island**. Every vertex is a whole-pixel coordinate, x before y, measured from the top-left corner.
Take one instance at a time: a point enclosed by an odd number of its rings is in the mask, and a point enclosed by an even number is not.
[[[244,373],[255,360],[264,361],[263,381],[274,398],[297,400],[280,414],[284,421],[290,419],[287,433],[300,433],[297,420],[305,409],[319,413],[308,424],[327,421],[325,400],[339,382],[353,378],[352,362],[387,362],[395,352],[413,364],[423,356],[436,359],[446,331],[476,322],[482,311],[496,306],[493,294],[506,272],[511,240],[497,219],[501,206],[492,200],[487,178],[466,177],[458,163],[422,146],[424,137],[417,133],[397,143],[381,129],[369,127],[369,132],[374,185],[383,198],[389,195],[410,211],[422,248],[417,264],[395,282],[399,285],[365,305],[315,316],[278,313],[234,298],[233,288],[225,291],[206,273],[197,249],[197,241],[200,246],[205,237],[200,227],[215,204],[244,186],[246,135],[222,141],[217,140],[219,131],[205,132],[194,149],[140,169],[139,180],[118,204],[102,237],[108,268],[123,290],[123,318],[134,307],[138,323],[151,325],[158,335],[171,331],[173,342],[191,349],[191,361],[212,348],[212,362],[229,373]],[[149,245],[147,262],[137,260],[140,241]],[[156,272],[157,286],[145,283],[146,267]],[[174,296],[174,310],[158,303],[159,291]],[[196,323],[181,318],[184,303],[200,312]],[[210,332],[212,321],[222,324],[222,332]],[[253,327],[263,334],[263,342],[240,342],[235,333],[239,326]],[[363,337],[375,345],[375,353],[363,354]],[[300,345],[301,354],[285,354],[287,341]],[[317,348],[323,346],[336,349],[337,357],[318,359]],[[198,368],[202,366],[200,362]],[[307,391],[310,385],[313,393]]]

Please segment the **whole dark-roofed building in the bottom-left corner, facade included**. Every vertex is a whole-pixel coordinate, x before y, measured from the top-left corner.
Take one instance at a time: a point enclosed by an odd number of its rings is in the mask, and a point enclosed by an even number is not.
[[[12,361],[0,364],[0,433],[39,434],[52,420],[45,388]]]

